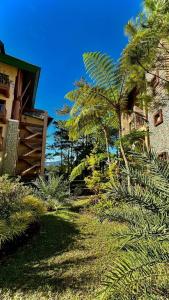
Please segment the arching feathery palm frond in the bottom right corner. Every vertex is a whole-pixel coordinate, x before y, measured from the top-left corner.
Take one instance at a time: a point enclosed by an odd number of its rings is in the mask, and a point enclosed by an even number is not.
[[[168,250],[161,243],[138,243],[134,252],[128,251],[127,256],[114,262],[104,281],[105,298],[140,299],[141,295],[153,294],[159,277],[168,275],[168,262]]]

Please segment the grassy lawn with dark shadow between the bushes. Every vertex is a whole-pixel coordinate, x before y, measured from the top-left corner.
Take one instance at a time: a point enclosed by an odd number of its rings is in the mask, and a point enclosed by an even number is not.
[[[1,264],[0,299],[96,299],[123,227],[68,209],[43,216],[40,234]]]

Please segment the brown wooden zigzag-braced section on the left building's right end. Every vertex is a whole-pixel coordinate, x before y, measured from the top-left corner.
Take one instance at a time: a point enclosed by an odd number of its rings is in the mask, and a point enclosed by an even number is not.
[[[20,122],[20,141],[18,147],[17,174],[34,177],[43,173],[46,141],[47,113],[42,118],[34,114],[23,115]]]

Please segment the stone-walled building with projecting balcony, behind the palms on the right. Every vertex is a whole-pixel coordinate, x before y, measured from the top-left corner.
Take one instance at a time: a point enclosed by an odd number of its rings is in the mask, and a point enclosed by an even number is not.
[[[128,95],[129,112],[122,115],[123,135],[133,129],[147,132],[143,145],[161,159],[169,158],[169,46],[162,41],[157,64],[146,74],[147,90],[152,103],[138,107],[137,92]],[[160,47],[159,47],[160,48]]]

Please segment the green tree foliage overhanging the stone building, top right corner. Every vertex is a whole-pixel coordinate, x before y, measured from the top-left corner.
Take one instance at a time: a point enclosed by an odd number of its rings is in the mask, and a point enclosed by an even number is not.
[[[145,78],[145,74],[159,77],[168,84],[163,72],[156,72],[158,66],[160,70],[165,70],[164,60],[169,53],[168,21],[168,1],[144,0],[143,11],[126,25],[129,43],[123,52],[122,66],[132,70],[132,79],[136,86],[141,77]]]

